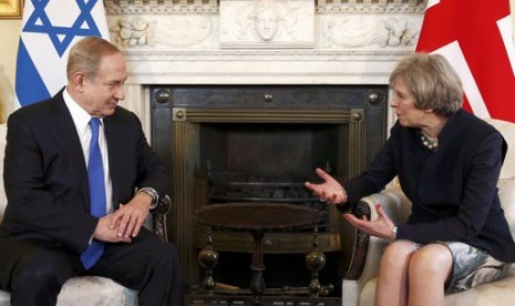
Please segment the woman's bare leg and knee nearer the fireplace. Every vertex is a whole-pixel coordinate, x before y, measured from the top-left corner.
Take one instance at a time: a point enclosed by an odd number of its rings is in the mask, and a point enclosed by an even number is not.
[[[416,247],[410,241],[395,241],[384,249],[378,274],[375,306],[406,305],[408,267]]]

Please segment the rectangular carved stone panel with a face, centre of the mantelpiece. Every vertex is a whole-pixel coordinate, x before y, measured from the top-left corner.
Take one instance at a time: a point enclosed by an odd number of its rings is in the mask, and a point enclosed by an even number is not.
[[[312,48],[312,0],[222,0],[222,48]]]

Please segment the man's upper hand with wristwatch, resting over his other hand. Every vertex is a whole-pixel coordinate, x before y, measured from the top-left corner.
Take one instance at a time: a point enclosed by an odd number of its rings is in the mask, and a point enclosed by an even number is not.
[[[123,238],[131,238],[140,234],[143,222],[148,215],[152,204],[152,196],[138,192],[131,202],[120,204],[120,208],[113,213],[110,228],[116,231],[116,235]]]

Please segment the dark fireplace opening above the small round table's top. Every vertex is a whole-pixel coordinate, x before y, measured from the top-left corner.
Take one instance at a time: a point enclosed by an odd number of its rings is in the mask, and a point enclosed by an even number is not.
[[[327,211],[303,183],[315,167],[346,173],[346,124],[204,123],[200,161],[209,182],[208,204],[279,202]],[[339,154],[342,153],[342,154]],[[326,214],[319,231],[329,231]]]

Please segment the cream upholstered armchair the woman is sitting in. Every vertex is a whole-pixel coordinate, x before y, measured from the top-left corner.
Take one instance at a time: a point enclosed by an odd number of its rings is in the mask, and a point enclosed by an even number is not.
[[[501,203],[508,221],[512,236],[515,237],[515,123],[501,120],[486,120],[506,139],[508,152],[497,182]],[[383,192],[365,196],[359,203],[354,214],[377,218],[375,204],[381,203],[384,212],[396,224],[404,223],[410,214],[411,203],[404,196],[399,184],[391,183]],[[368,234],[353,231],[350,267],[342,282],[343,306],[373,305],[375,293],[375,276],[379,269],[381,252],[388,241],[371,237]],[[446,306],[474,305],[513,305],[515,300],[515,264],[506,271],[501,279],[482,284],[465,292],[445,296]]]

